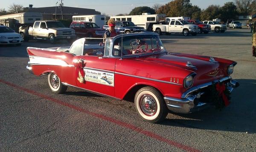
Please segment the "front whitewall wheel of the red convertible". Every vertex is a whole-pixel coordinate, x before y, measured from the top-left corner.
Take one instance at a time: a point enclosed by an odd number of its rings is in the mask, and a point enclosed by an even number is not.
[[[135,109],[144,121],[157,123],[168,114],[163,96],[153,87],[143,87],[134,98]]]

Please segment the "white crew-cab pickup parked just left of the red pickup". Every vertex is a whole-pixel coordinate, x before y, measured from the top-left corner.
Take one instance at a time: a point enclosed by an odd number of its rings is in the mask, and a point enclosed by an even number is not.
[[[200,29],[198,25],[190,24],[185,20],[171,20],[168,25],[154,24],[153,31],[157,32],[159,35],[162,33],[180,33],[184,36],[188,36],[189,34],[196,36],[196,34],[200,32]]]

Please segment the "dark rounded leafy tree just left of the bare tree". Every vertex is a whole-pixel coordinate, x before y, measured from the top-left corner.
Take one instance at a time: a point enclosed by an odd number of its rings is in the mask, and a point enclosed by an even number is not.
[[[236,5],[233,2],[227,2],[220,8],[221,20],[227,22],[227,20],[236,20],[238,12]]]

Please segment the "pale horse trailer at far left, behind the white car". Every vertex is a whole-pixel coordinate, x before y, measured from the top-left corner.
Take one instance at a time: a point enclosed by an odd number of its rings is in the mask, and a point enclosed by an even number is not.
[[[24,12],[0,16],[0,24],[6,25],[15,31],[21,25],[33,25],[36,20],[42,20],[42,14],[38,12]]]

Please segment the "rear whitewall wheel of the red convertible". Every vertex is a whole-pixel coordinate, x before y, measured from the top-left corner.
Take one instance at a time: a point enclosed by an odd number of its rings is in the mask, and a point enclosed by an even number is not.
[[[54,93],[64,93],[67,90],[67,86],[61,83],[60,78],[55,73],[48,74],[48,84]]]

